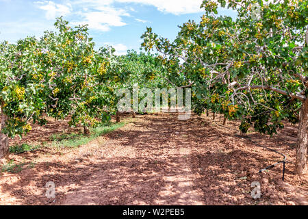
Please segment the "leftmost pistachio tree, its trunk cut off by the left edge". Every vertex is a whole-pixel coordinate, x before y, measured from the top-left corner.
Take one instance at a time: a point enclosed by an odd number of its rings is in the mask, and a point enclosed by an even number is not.
[[[41,53],[38,44],[35,38],[0,44],[0,158],[8,155],[9,137],[31,131],[31,119],[44,123],[40,114],[46,96],[41,83],[44,75],[37,74]]]

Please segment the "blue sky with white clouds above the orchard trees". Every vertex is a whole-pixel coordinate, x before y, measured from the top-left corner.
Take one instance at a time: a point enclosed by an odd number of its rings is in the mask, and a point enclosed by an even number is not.
[[[117,54],[127,49],[139,51],[140,36],[146,27],[173,40],[178,25],[199,21],[202,0],[0,0],[0,41],[11,43],[26,36],[42,36],[54,30],[57,16],[71,26],[88,24],[97,48],[110,44]],[[231,10],[220,14],[235,17]]]

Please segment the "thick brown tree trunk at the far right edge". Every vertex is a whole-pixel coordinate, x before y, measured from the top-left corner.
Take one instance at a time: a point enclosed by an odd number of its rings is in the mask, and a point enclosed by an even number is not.
[[[303,175],[307,172],[307,146],[308,146],[308,99],[303,102],[300,110],[300,123],[298,125],[295,174]]]

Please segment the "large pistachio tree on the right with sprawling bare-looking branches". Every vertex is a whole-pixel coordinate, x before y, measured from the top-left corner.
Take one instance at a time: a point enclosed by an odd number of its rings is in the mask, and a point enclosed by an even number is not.
[[[218,7],[238,17],[218,16]],[[148,28],[142,46],[183,73],[196,101],[272,135],[299,123],[294,172],[307,172],[307,1],[203,1],[201,22],[188,21],[170,42]],[[194,104],[193,104],[194,105]],[[199,104],[200,105],[200,104]]]

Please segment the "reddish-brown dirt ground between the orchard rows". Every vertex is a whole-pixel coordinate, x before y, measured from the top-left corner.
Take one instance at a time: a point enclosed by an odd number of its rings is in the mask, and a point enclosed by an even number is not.
[[[77,149],[49,147],[10,155],[15,162],[34,165],[0,173],[0,204],[308,205],[308,177],[293,175],[295,126],[286,125],[273,138],[249,133],[255,144],[239,135],[238,122],[223,127],[222,120],[137,116]],[[64,129],[78,131],[63,124],[35,127],[22,142],[47,140]],[[262,146],[287,155],[285,182],[282,164],[258,172],[282,159]],[[48,181],[55,183],[55,198],[45,196]],[[261,198],[251,197],[253,181],[261,183]]]

